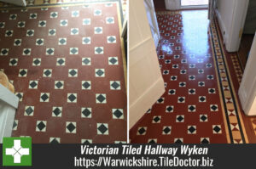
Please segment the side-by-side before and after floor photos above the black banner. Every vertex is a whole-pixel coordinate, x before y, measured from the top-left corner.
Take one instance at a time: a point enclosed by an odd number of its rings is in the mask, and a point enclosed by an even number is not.
[[[0,142],[255,144],[253,0],[0,0]]]

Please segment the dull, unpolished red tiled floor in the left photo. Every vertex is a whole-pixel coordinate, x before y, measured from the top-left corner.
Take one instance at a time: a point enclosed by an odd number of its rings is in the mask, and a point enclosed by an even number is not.
[[[33,143],[125,142],[118,5],[0,11],[0,68],[20,98],[13,136],[31,136]]]

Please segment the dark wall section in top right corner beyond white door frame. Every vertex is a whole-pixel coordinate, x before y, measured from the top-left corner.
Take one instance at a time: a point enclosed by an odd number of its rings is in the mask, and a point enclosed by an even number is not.
[[[243,33],[246,34],[254,34],[256,31],[256,1],[250,0],[248,12],[247,12],[247,19],[244,25]]]

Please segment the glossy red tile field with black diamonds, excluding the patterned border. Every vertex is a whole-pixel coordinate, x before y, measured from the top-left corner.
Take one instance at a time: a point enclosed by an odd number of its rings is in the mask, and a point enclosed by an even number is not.
[[[207,10],[160,12],[157,19],[166,93],[132,127],[131,143],[228,143]]]

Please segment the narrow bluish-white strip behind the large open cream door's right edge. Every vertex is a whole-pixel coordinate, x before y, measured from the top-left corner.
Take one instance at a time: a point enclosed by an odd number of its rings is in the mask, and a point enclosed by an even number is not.
[[[158,42],[160,41],[160,31],[154,11],[154,3],[153,0],[144,0],[144,4],[147,12],[150,31],[154,39],[154,46],[157,48]]]

